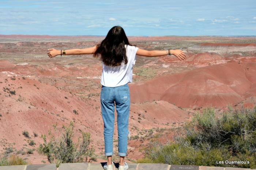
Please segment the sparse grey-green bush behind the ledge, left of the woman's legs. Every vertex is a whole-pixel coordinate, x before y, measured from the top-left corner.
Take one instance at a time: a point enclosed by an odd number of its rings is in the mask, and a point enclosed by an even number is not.
[[[57,124],[53,125],[54,130],[56,130],[56,126]],[[49,131],[49,142],[46,141],[46,135],[41,136],[44,143],[38,147],[38,153],[46,155],[50,163],[57,162],[57,160],[60,163],[83,162],[84,158],[87,161],[88,157],[94,155],[95,150],[93,146],[89,147],[91,142],[90,133],[82,131],[82,142],[75,144],[72,141],[74,123],[71,122],[69,127],[63,125],[62,129],[64,129],[64,132],[61,139],[56,139],[51,131]]]

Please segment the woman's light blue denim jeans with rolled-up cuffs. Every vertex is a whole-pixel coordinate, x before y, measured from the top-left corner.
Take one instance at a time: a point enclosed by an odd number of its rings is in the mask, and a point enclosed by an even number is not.
[[[113,154],[114,109],[117,111],[118,155],[127,154],[130,91],[128,83],[118,87],[101,87],[101,114],[104,122],[105,155]]]

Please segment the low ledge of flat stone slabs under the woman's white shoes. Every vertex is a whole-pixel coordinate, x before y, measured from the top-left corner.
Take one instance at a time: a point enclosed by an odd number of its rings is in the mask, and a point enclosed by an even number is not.
[[[101,163],[61,163],[56,169],[55,163],[36,165],[0,166],[0,170],[103,170],[106,162]],[[114,163],[118,170],[118,163]],[[128,170],[251,170],[247,168],[210,167],[192,165],[168,165],[165,163],[128,163]],[[253,169],[256,170],[256,169]]]

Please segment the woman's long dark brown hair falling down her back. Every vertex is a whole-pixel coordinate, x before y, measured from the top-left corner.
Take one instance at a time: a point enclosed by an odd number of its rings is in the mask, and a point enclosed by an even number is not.
[[[93,57],[98,58],[101,55],[100,60],[106,66],[120,66],[123,61],[127,64],[125,44],[135,46],[129,43],[122,27],[114,26],[109,30],[105,39],[97,44]]]

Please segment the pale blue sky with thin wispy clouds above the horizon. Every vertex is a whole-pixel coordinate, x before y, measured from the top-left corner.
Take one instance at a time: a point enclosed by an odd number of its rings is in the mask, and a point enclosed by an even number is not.
[[[0,34],[256,35],[255,0],[0,0]]]

